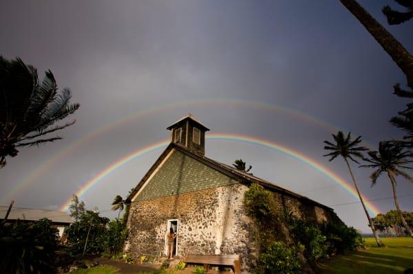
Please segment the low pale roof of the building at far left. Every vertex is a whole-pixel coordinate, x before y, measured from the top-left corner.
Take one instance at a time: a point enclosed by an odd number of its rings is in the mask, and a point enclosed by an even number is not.
[[[8,207],[0,206],[0,219],[6,216],[7,210]],[[40,220],[42,218],[47,218],[56,225],[70,225],[74,222],[67,212],[47,209],[12,207],[8,216],[8,220]]]

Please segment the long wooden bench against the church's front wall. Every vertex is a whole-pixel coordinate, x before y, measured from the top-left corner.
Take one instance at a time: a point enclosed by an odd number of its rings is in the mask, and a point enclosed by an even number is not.
[[[207,266],[231,266],[235,274],[241,274],[241,258],[234,255],[187,255],[184,262],[188,264],[206,264]]]

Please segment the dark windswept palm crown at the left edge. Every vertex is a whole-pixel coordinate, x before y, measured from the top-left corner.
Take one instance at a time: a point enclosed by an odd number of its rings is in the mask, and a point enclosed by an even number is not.
[[[75,121],[55,125],[74,113],[79,104],[70,104],[69,89],[58,92],[51,71],[39,83],[37,71],[20,58],[0,56],[0,168],[6,157],[14,157],[20,146],[34,146],[62,139],[48,133],[71,126]]]

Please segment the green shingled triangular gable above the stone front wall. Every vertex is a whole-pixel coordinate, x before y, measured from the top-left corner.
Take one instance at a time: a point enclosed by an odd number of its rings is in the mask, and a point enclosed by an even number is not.
[[[235,183],[237,181],[229,176],[213,170],[208,165],[204,165],[178,150],[173,150],[171,157],[143,188],[136,201]]]

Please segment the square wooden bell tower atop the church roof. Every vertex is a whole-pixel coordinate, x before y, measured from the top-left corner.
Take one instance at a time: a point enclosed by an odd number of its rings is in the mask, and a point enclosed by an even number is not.
[[[171,130],[171,143],[180,144],[200,155],[205,155],[206,126],[195,119],[191,113],[167,127]]]

